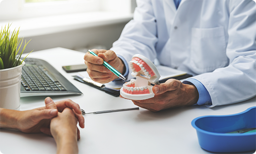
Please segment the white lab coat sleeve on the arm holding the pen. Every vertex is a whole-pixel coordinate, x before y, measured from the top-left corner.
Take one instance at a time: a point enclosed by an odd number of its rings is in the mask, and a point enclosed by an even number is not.
[[[113,43],[113,50],[126,62],[135,54],[142,54],[152,62],[156,58],[155,45],[158,41],[156,19],[150,0],[137,0],[137,8],[131,20],[124,28],[120,38]],[[131,72],[129,68],[129,72]],[[128,74],[128,80],[132,78]]]

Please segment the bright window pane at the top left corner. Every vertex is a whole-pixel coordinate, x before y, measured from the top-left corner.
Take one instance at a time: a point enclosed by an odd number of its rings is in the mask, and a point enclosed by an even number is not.
[[[0,2],[0,20],[99,10],[100,0],[2,0]]]

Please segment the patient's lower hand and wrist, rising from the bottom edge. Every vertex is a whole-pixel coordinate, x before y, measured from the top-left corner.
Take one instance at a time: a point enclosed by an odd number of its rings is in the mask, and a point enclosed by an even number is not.
[[[50,132],[57,144],[57,154],[78,154],[77,122],[70,108],[64,108],[51,120]]]

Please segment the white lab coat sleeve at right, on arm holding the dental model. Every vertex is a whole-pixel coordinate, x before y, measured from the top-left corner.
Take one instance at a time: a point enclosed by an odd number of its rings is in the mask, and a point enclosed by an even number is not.
[[[236,3],[234,3],[236,2]],[[230,0],[229,65],[195,77],[208,90],[212,105],[233,104],[256,95],[256,0]]]

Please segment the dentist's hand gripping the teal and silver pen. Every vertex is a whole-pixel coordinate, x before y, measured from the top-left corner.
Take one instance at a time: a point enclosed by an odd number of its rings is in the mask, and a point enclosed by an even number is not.
[[[120,58],[116,56],[114,51],[104,49],[92,49],[92,51],[98,55],[98,57],[90,53],[86,53],[84,55],[84,63],[88,67],[87,73],[92,78],[92,80],[99,83],[108,83],[113,79],[118,78],[103,65],[103,60],[108,62],[118,72],[124,74],[125,64]]]

